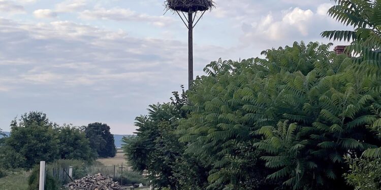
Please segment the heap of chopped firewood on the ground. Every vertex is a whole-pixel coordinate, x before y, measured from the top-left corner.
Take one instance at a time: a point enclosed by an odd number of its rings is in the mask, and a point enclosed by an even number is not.
[[[118,182],[112,181],[109,176],[104,177],[101,173],[97,175],[87,175],[81,179],[76,179],[64,186],[73,190],[122,190]]]

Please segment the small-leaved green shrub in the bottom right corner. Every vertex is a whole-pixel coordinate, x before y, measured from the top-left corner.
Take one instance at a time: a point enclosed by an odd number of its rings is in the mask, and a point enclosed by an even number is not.
[[[350,166],[348,173],[344,174],[348,184],[354,186],[356,190],[381,189],[380,159],[367,160],[345,157],[345,160]]]

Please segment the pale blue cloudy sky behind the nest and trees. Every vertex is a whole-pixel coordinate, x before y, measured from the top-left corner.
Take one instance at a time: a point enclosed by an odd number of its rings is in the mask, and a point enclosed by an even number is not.
[[[343,29],[330,0],[216,0],[194,30],[195,75]],[[28,111],[133,134],[149,104],[187,86],[187,29],[164,0],[0,0],[0,128]],[[165,13],[166,12],[166,13]],[[199,14],[200,16],[200,14]],[[335,43],[341,45],[342,43]]]

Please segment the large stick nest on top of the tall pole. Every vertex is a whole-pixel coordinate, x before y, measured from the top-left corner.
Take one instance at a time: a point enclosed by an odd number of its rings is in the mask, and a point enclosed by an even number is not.
[[[166,0],[167,10],[182,12],[207,11],[214,7],[213,0]]]

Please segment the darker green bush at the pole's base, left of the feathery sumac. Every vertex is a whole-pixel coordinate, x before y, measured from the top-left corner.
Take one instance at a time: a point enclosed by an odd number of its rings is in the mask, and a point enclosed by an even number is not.
[[[150,105],[147,116],[136,118],[136,137],[123,138],[123,150],[133,169],[148,172],[159,188],[205,189],[207,170],[184,153],[175,133],[178,120],[187,116],[184,92],[173,92],[172,102]]]

